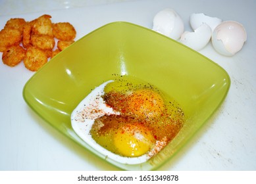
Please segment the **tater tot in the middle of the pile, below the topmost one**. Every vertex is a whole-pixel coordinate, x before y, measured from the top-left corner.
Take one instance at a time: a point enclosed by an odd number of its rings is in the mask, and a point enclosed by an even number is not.
[[[49,35],[31,35],[31,43],[33,46],[43,50],[51,50],[55,46],[55,40]]]

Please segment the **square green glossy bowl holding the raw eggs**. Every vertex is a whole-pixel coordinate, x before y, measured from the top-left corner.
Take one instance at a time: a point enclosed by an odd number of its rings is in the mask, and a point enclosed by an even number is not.
[[[72,110],[91,89],[118,74],[155,85],[174,98],[186,122],[155,157],[120,164],[82,141],[71,127]],[[43,66],[24,86],[26,103],[61,133],[122,170],[156,170],[170,160],[213,115],[228,93],[230,78],[209,58],[129,22],[112,22],[85,35]]]

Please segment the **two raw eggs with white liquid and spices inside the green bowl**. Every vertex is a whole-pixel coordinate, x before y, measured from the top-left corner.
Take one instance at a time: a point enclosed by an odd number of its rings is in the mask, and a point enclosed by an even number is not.
[[[93,89],[73,110],[71,124],[105,159],[140,164],[174,138],[184,113],[153,85],[121,76]]]

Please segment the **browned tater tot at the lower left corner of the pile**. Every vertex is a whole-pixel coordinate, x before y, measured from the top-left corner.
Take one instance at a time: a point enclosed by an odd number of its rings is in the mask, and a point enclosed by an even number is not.
[[[25,50],[20,45],[13,45],[3,52],[2,60],[4,64],[13,67],[23,60],[24,55]]]

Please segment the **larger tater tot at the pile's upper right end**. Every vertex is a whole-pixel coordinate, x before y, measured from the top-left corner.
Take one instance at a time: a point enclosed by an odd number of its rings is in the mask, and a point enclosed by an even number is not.
[[[71,41],[76,37],[76,30],[69,22],[59,22],[53,24],[53,35],[57,39]]]

